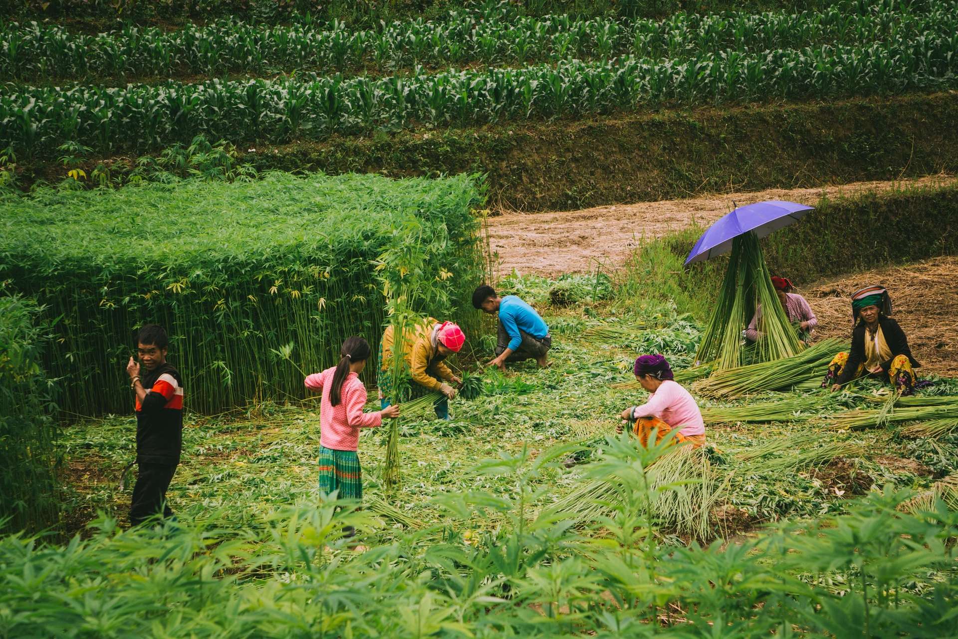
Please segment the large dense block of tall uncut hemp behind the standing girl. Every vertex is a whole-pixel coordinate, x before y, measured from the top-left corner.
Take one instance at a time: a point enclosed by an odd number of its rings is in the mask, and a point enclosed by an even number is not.
[[[354,334],[378,348],[376,262],[411,237],[430,238],[417,277],[444,293],[416,310],[478,328],[469,295],[485,270],[480,203],[468,175],[270,173],[232,185],[8,194],[0,282],[62,316],[48,368],[64,379],[67,413],[129,409],[124,363],[146,322],[170,333],[194,410],[301,399],[297,367],[331,366]],[[372,381],[375,367],[367,371]]]

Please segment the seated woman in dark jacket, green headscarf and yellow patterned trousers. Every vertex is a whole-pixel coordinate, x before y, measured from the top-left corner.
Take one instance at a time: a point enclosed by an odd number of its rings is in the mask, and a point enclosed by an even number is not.
[[[888,315],[892,300],[882,286],[865,286],[852,295],[852,350],[835,355],[822,388],[836,391],[856,377],[872,375],[887,378],[901,395],[911,395],[915,372],[921,366],[911,356],[908,338],[898,322]]]

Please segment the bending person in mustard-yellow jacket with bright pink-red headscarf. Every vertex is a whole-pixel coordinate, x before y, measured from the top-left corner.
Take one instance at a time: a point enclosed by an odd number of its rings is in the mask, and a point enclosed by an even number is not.
[[[379,403],[383,408],[390,404],[395,386],[393,341],[393,327],[388,327],[379,345]],[[462,379],[456,377],[443,360],[450,354],[459,353],[466,343],[466,335],[452,322],[440,323],[429,317],[407,329],[402,343],[403,358],[415,384],[413,397],[422,397],[430,391],[442,393],[445,398],[436,404],[436,417],[448,420],[449,399],[456,397],[452,384],[458,384]]]

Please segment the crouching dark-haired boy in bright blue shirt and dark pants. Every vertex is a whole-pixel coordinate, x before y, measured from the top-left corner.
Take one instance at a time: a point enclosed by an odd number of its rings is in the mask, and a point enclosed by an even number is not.
[[[498,344],[495,359],[488,366],[506,370],[506,362],[525,361],[534,358],[541,367],[549,365],[547,359],[552,348],[549,327],[532,308],[515,295],[499,297],[495,289],[482,285],[472,293],[472,306],[489,313],[499,313]]]

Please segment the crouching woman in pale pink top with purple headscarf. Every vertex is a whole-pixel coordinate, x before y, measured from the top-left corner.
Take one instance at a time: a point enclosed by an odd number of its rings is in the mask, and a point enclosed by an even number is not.
[[[635,378],[651,393],[649,401],[622,411],[622,419],[632,424],[632,432],[642,445],[648,445],[652,430],[658,429],[656,442],[677,428],[675,442],[705,444],[705,422],[696,400],[675,382],[672,367],[662,355],[642,355],[635,360]],[[617,432],[622,432],[620,425]]]

